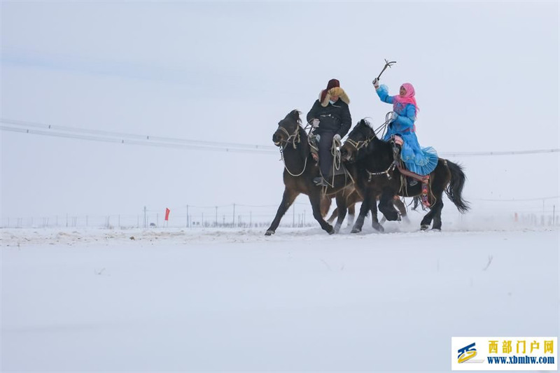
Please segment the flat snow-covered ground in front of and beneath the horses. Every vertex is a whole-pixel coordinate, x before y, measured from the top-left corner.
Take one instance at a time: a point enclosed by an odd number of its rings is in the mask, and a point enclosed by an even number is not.
[[[1,371],[434,372],[559,334],[557,228],[386,227],[1,230]]]

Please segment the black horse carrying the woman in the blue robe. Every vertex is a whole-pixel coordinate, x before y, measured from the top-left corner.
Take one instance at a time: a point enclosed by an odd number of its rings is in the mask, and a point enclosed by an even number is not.
[[[366,120],[360,120],[350,132],[348,139],[341,149],[342,160],[355,162],[358,178],[356,189],[363,195],[360,214],[352,232],[360,232],[363,220],[368,211],[372,211],[372,227],[383,231],[377,221],[377,197],[379,197],[379,211],[387,220],[397,220],[398,214],[393,208],[393,197],[416,197],[421,195],[422,185],[409,186],[402,183],[400,171],[393,164],[393,146],[387,141],[377,138],[372,127]],[[441,211],[443,208],[443,192],[455,204],[458,211],[468,211],[468,202],[461,197],[465,185],[465,174],[458,164],[440,158],[437,166],[430,173],[430,192],[428,202],[430,211],[424,216],[420,225],[426,230],[433,220],[433,230],[441,230]]]

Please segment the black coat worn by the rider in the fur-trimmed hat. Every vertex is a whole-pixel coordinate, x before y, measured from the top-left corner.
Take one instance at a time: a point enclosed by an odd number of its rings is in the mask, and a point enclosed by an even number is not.
[[[335,132],[340,137],[344,137],[352,125],[350,109],[342,99],[338,99],[335,104],[329,102],[327,106],[321,106],[319,100],[316,100],[307,113],[307,122],[314,118],[319,120],[319,127],[314,130],[318,133]]]

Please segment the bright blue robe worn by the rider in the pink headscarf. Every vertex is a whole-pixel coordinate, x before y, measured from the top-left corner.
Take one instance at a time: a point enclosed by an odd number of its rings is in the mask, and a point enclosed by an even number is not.
[[[389,96],[386,85],[381,85],[377,90],[377,95],[381,101],[387,104],[393,104],[393,96]],[[391,139],[393,134],[402,137],[402,150],[400,150],[400,158],[405,162],[405,166],[409,171],[420,175],[428,175],[437,166],[437,153],[434,148],[421,148],[416,138],[416,129],[414,121],[416,120],[416,107],[413,104],[397,103],[393,111],[398,114],[397,118],[391,121],[387,127],[387,133],[384,141]]]

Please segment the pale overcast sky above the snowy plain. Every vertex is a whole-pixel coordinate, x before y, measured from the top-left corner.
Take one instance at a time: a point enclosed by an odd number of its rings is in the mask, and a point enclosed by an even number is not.
[[[384,58],[391,94],[416,89],[422,146],[560,148],[558,1],[2,1],[1,118],[271,146],[330,78],[354,124],[381,124]],[[279,153],[0,136],[3,218],[281,200]],[[470,199],[560,194],[559,153],[449,159]]]

